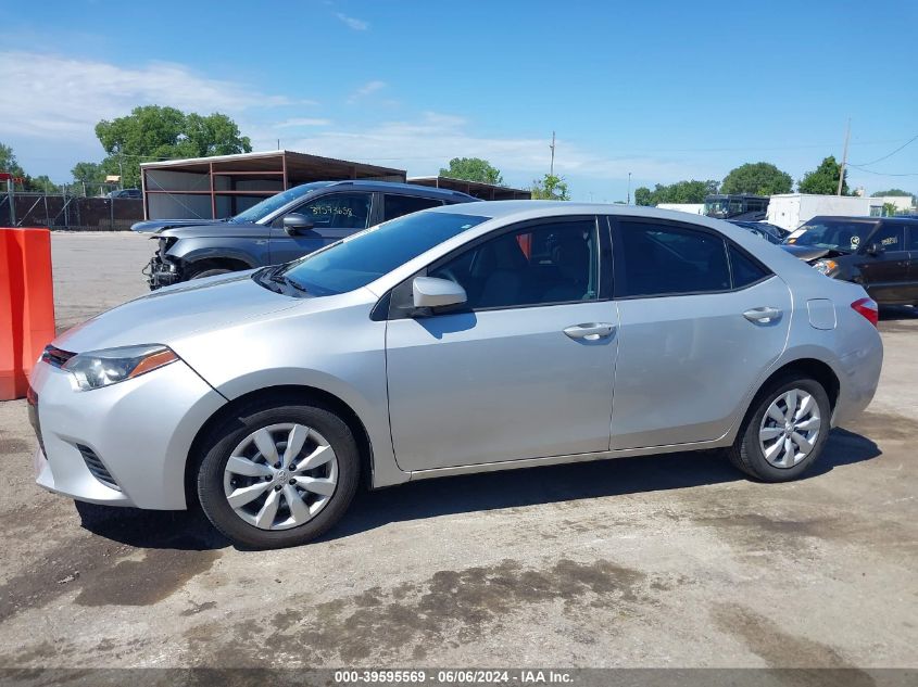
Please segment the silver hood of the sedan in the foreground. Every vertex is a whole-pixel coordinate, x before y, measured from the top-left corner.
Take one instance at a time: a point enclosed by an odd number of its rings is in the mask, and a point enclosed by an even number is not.
[[[137,344],[172,345],[192,333],[278,313],[303,302],[260,287],[251,279],[253,271],[154,291],[64,332],[54,345],[74,353]]]

